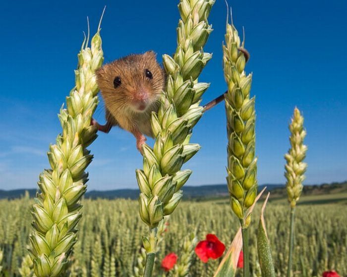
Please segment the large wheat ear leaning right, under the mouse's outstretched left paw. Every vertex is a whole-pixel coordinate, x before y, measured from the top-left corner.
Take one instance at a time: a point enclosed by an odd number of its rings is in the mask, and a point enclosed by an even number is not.
[[[52,169],[41,173],[38,182],[41,193],[32,206],[34,231],[29,249],[37,277],[61,276],[77,241],[76,225],[82,216],[79,200],[86,191],[85,169],[92,161],[86,147],[97,137],[90,121],[98,104],[94,72],[104,61],[100,30],[99,24],[91,47],[87,46],[88,39],[83,41],[75,70],[76,86],[66,97],[66,109],[61,108],[58,115],[62,133],[48,152]]]

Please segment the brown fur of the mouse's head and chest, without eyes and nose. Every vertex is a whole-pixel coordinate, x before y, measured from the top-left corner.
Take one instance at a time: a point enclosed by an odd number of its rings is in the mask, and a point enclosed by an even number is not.
[[[151,71],[153,79],[146,77],[145,69]],[[106,106],[106,120],[133,134],[140,132],[152,137],[151,112],[158,110],[159,96],[165,86],[165,73],[156,54],[148,51],[120,58],[101,67],[96,76]],[[117,88],[114,87],[116,76],[121,78]],[[139,91],[148,92],[144,111],[133,104]]]

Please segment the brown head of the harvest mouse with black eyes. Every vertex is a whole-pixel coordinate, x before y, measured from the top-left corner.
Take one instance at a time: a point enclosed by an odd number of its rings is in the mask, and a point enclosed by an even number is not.
[[[165,85],[164,71],[153,51],[115,60],[101,67],[96,76],[111,112],[129,108],[143,112],[159,99]]]

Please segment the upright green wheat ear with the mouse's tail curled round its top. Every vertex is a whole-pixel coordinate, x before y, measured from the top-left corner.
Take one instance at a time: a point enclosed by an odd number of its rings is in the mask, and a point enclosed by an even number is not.
[[[224,74],[228,83],[226,93],[227,131],[228,131],[228,177],[231,194],[231,209],[247,227],[250,215],[244,218],[246,211],[254,203],[257,194],[257,159],[255,152],[255,96],[249,92],[252,74],[246,75],[244,68],[246,57],[240,47],[237,30],[227,25],[223,46]]]

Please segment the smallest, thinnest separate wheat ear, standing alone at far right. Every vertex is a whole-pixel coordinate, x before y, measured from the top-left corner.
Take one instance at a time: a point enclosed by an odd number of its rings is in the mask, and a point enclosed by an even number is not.
[[[306,131],[303,128],[304,118],[298,108],[294,109],[294,115],[289,124],[290,149],[285,155],[287,164],[285,165],[287,179],[286,187],[290,206],[293,208],[299,200],[302,191],[302,182],[305,180],[304,173],[307,164],[303,162],[306,157],[307,146],[303,144]]]

